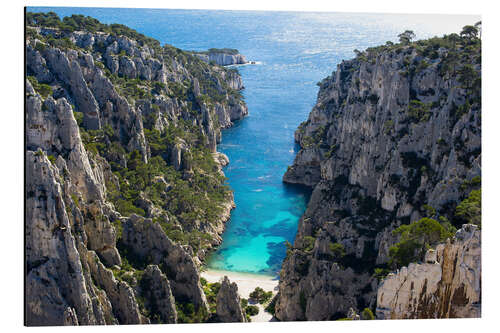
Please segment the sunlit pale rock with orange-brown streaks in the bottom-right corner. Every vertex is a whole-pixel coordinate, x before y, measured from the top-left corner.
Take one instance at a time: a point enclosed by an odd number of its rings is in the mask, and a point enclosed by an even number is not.
[[[464,224],[428,250],[424,263],[389,274],[377,292],[377,318],[481,317],[481,232]]]

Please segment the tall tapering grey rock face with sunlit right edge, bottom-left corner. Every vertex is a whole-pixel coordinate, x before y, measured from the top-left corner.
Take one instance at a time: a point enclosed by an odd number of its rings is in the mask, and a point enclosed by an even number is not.
[[[26,152],[26,320],[34,326],[102,324],[57,177],[41,150]]]

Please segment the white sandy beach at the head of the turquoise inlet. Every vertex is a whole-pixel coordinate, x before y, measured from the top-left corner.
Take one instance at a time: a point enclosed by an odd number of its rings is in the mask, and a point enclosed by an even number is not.
[[[207,269],[201,272],[201,276],[209,283],[220,282],[224,276],[227,276],[231,282],[235,282],[238,285],[238,293],[240,294],[240,297],[247,299],[256,287],[261,287],[265,291],[272,291],[273,295],[276,295],[278,292],[279,279],[277,276],[272,277],[269,275],[239,273],[214,269]],[[250,302],[250,304],[253,303]],[[252,322],[274,321],[273,316],[264,311],[264,307],[261,304],[254,305],[257,305],[259,308],[259,313],[256,316],[251,317]]]

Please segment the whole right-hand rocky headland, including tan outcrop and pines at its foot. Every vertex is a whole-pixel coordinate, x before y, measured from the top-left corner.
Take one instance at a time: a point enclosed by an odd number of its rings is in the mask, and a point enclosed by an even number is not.
[[[481,40],[405,34],[339,64],[295,132],[283,180],[313,193],[279,320],[480,316]]]

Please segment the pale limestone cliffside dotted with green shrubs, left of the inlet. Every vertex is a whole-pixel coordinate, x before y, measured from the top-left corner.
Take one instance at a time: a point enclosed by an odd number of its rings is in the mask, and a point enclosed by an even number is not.
[[[216,147],[247,114],[238,73],[92,18],[27,25],[26,324],[208,318],[199,265],[234,207]]]

